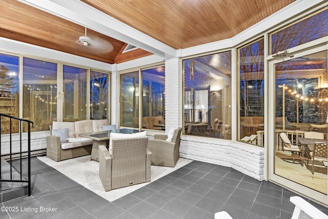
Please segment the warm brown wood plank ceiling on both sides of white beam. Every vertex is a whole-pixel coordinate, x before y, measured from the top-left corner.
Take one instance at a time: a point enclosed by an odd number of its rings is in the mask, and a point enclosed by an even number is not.
[[[183,49],[231,38],[296,0],[81,0],[142,33]],[[121,53],[120,39],[87,30],[93,46],[78,44],[85,27],[16,0],[0,3],[0,37],[88,57],[121,63],[151,53]]]

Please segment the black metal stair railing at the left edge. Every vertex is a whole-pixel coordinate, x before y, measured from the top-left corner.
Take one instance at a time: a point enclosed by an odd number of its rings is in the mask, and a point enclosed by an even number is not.
[[[27,159],[28,159],[28,166],[27,166],[27,171],[28,171],[28,176],[27,179],[23,177],[23,171],[22,171],[22,159],[23,159],[23,153],[26,153],[26,151],[22,151],[22,143],[23,143],[23,132],[22,132],[22,127],[23,125],[27,125]],[[34,123],[29,120],[25,120],[23,118],[18,118],[14,117],[11,115],[6,115],[0,113],[0,153],[3,148],[3,135],[9,136],[9,164],[10,164],[10,178],[3,179],[2,174],[0,174],[0,182],[10,182],[10,183],[28,183],[28,195],[31,195],[31,124],[32,127]],[[14,129],[14,133],[13,133]],[[18,130],[19,129],[19,130]],[[19,135],[19,152],[15,152],[15,154],[18,154],[18,159],[19,159],[19,168],[18,168],[18,173],[20,175],[19,180],[13,179],[13,167],[12,167],[12,161],[13,161],[13,151],[12,151],[12,135],[15,134]],[[0,154],[3,155],[3,154]],[[2,170],[2,165],[0,162],[0,173],[3,173]]]

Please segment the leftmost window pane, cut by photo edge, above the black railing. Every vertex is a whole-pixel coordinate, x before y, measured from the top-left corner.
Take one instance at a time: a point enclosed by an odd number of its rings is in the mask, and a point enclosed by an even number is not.
[[[19,57],[0,54],[0,113],[18,116],[19,113]],[[17,133],[18,123],[12,124],[12,132]],[[2,119],[1,133],[10,132],[9,119]]]

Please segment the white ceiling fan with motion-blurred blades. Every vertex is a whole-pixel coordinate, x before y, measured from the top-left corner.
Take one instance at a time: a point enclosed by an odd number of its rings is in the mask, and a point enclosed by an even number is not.
[[[90,48],[103,49],[103,50],[105,49],[106,52],[111,52],[113,50],[113,46],[110,43],[110,39],[105,39],[101,37],[91,38],[87,36],[87,27],[85,27],[85,35],[78,37],[76,43]]]

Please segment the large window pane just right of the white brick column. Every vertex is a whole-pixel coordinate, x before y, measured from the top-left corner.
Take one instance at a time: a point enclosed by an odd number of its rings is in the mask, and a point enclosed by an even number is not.
[[[185,134],[231,140],[231,51],[183,60]]]

